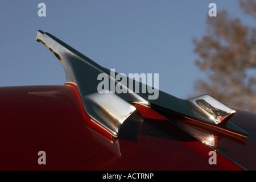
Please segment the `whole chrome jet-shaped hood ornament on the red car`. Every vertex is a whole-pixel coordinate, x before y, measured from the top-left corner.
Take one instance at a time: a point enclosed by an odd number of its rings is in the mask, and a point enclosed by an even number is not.
[[[126,93],[113,93],[110,90],[108,93],[98,93],[97,86],[100,81],[97,80],[97,77],[101,73],[108,75],[109,80],[115,85],[120,84],[113,80],[109,69],[101,67],[47,32],[39,30],[36,40],[43,43],[63,65],[67,82],[77,85],[85,112],[113,137],[118,136],[122,123],[136,110],[133,104],[151,107],[170,121],[172,121],[168,117],[170,114],[189,118],[196,126],[193,127],[193,130],[192,128],[188,129],[190,126],[187,124],[189,123],[184,125],[177,123],[188,133],[195,131],[198,133],[199,130],[196,128],[210,127],[240,137],[248,135],[229,122],[236,111],[209,95],[182,100],[159,90],[159,97],[156,100],[148,101],[146,98],[150,93],[135,93],[134,90]],[[135,81],[136,83],[143,86],[141,82]],[[123,88],[130,90],[126,85],[123,84]],[[206,134],[209,135],[205,130]],[[201,130],[200,135],[204,135]]]

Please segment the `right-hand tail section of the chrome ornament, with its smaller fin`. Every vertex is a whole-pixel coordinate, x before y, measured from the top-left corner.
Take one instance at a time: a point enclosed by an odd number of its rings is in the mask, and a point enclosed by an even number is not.
[[[159,97],[151,101],[151,108],[167,119],[169,114],[174,114],[226,133],[245,138],[249,135],[229,121],[236,114],[235,110],[207,94],[182,100],[159,90]]]

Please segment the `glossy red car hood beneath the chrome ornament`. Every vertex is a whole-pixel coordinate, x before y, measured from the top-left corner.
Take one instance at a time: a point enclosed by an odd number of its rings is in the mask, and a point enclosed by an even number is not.
[[[241,170],[150,109],[115,139],[84,112],[75,85],[0,88],[1,170]],[[139,109],[139,108],[138,108]],[[140,110],[140,109],[139,109]],[[141,108],[143,110],[143,108]],[[129,123],[128,123],[129,124]],[[46,165],[38,152],[46,152]]]

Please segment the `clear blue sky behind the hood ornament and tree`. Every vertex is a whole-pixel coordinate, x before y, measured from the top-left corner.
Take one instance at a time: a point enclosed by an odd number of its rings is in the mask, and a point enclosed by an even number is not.
[[[40,2],[46,17],[38,16]],[[192,39],[205,34],[211,2],[217,14],[225,9],[253,22],[234,0],[1,0],[0,86],[65,83],[59,61],[35,41],[42,30],[116,72],[159,73],[160,90],[187,98],[193,83],[206,79],[194,64]]]

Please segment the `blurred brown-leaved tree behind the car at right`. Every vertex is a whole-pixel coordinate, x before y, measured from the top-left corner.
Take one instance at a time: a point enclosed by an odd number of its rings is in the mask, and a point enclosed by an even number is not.
[[[240,7],[256,19],[255,0],[240,1]],[[195,64],[208,77],[195,82],[195,95],[207,93],[234,109],[256,113],[256,28],[230,18],[225,10],[208,16],[207,24],[207,35],[193,39],[200,57]]]

